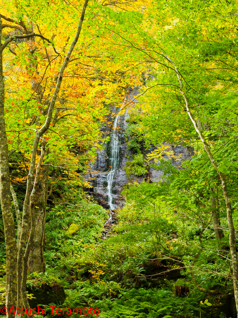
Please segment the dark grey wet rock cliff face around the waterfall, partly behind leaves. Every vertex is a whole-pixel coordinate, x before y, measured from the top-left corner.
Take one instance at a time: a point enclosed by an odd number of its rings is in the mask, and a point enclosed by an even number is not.
[[[128,100],[133,100],[134,96],[136,96],[139,92],[138,88],[134,88],[129,90],[129,97]],[[118,111],[119,109],[117,109]],[[113,112],[116,110],[113,109]],[[89,181],[89,184],[93,186],[93,189],[88,189],[88,194],[92,195],[98,202],[98,204],[102,205],[104,208],[107,209],[116,209],[118,207],[122,207],[124,204],[124,200],[121,196],[121,191],[123,189],[123,186],[129,182],[128,177],[126,176],[126,172],[124,170],[124,167],[126,165],[126,162],[128,159],[131,158],[134,153],[128,149],[126,144],[126,138],[125,135],[125,129],[128,125],[127,119],[129,118],[129,111],[126,110],[124,114],[121,114],[120,117],[117,120],[117,134],[113,134],[111,132],[111,140],[107,144],[104,145],[104,149],[97,154],[96,162],[91,165],[92,170],[94,171],[100,171],[99,173],[90,172],[86,176],[86,178]],[[110,129],[112,131],[113,129],[113,122],[110,122],[110,125],[108,125],[106,128],[104,128],[105,131]],[[110,168],[111,165],[111,158],[113,156],[112,154],[112,138],[115,138],[118,141],[118,149],[117,149],[117,162],[115,167]],[[174,151],[175,156],[181,156],[181,161],[174,161],[172,164],[179,166],[182,162],[182,160],[187,159],[191,156],[191,149],[188,149],[186,147],[180,147],[180,146],[170,146],[171,150]],[[150,151],[153,151],[155,149],[154,145],[151,145],[150,150],[142,150],[143,154],[148,154]],[[116,171],[113,173],[113,180],[111,184],[111,189],[109,193],[108,189],[108,177],[106,171],[109,169],[115,169]],[[104,172],[104,173],[103,173]],[[134,178],[134,181],[137,181],[138,183],[141,183],[144,179],[156,181],[156,180],[162,180],[163,171],[155,170],[151,167],[148,167],[148,173],[143,176],[137,176]],[[112,197],[112,205],[109,204],[109,196]]]

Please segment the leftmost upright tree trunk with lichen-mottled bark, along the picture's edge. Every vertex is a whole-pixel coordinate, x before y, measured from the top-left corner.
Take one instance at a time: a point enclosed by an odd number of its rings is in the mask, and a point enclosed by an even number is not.
[[[0,18],[0,199],[3,213],[3,225],[6,242],[6,307],[10,311],[11,306],[17,305],[17,240],[15,224],[11,207],[10,172],[8,161],[8,143],[5,130],[4,117],[4,79],[2,56],[2,20]],[[14,313],[7,317],[14,317]]]

